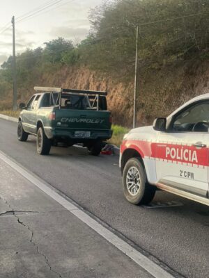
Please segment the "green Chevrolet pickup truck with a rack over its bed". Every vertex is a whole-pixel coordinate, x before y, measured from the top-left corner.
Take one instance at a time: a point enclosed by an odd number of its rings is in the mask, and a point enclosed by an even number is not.
[[[34,87],[28,104],[21,103],[17,137],[37,137],[38,154],[49,154],[51,146],[70,147],[82,143],[94,156],[111,138],[111,113],[107,92]]]

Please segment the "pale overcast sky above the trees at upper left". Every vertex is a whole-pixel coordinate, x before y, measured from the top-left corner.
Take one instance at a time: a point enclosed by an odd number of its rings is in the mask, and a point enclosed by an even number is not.
[[[36,8],[45,8],[40,14]],[[102,0],[0,0],[0,65],[12,54],[11,18],[15,16],[16,53],[22,53],[27,47],[43,47],[44,42],[63,37],[77,42],[88,34],[90,23],[88,11],[100,5]],[[22,15],[36,13],[31,18]],[[18,22],[21,17],[22,22]],[[8,24],[8,26],[6,26]],[[6,31],[6,27],[9,27]]]

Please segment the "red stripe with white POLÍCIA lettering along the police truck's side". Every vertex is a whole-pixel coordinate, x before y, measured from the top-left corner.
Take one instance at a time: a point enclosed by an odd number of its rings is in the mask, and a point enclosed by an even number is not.
[[[135,149],[142,158],[159,158],[167,161],[190,163],[208,166],[208,148],[197,149],[194,146],[173,145],[141,140],[126,140],[121,145],[121,152],[125,149]]]

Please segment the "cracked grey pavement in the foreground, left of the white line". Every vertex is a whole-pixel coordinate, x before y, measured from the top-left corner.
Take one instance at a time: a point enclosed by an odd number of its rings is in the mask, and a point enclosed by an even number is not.
[[[0,277],[150,277],[0,159]]]

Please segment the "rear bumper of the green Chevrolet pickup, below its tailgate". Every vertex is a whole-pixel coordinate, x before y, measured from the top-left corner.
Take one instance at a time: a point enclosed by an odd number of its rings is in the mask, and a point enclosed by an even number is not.
[[[45,133],[47,138],[49,139],[67,139],[67,140],[95,140],[95,139],[110,139],[112,136],[111,130],[100,130],[100,129],[93,129],[93,130],[85,130],[81,129],[81,131],[90,131],[91,136],[90,137],[75,137],[75,131],[78,131],[79,129],[53,129],[50,127],[45,128]]]

